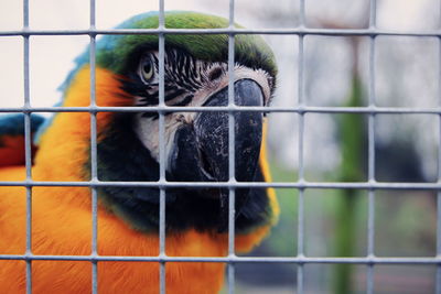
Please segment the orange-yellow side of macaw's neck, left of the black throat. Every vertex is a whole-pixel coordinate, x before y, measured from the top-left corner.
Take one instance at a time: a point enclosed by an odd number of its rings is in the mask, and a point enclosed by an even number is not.
[[[78,69],[67,86],[62,107],[90,106],[90,74],[88,66]],[[118,76],[96,68],[96,104],[98,106],[129,106]],[[112,112],[96,115],[98,142],[112,119]],[[40,134],[34,160],[34,181],[90,181],[90,113],[57,112]],[[65,195],[66,202],[85,204],[84,199]]]

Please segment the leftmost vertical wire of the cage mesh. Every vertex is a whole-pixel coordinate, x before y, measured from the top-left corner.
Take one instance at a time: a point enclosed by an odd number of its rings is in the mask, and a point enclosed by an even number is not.
[[[23,0],[23,30],[29,29],[29,0]],[[23,36],[23,87],[24,108],[31,106],[30,73],[29,73],[29,35]],[[26,182],[32,181],[32,150],[31,150],[31,112],[24,112],[24,156]],[[32,255],[32,187],[26,186],[26,251]],[[32,293],[32,260],[26,259],[26,293]]]

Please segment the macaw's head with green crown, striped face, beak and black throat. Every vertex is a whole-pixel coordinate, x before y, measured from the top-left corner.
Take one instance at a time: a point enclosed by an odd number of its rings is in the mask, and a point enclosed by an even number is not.
[[[227,20],[213,15],[194,12],[165,13],[166,28],[215,29],[227,25]],[[158,28],[158,13],[135,17],[119,26],[126,28]],[[158,106],[158,35],[146,34],[106,35],[97,43],[97,68],[110,70],[118,77],[119,90],[122,90],[122,96],[128,101],[127,106]],[[79,64],[85,56],[78,59]],[[275,90],[277,68],[273,54],[261,37],[236,35],[233,72],[234,101],[237,106],[269,105]],[[165,35],[166,106],[227,106],[228,79],[227,35]],[[96,87],[100,87],[100,83],[97,83]],[[228,116],[226,111],[164,112],[164,168],[168,181],[229,179]],[[234,113],[234,118],[236,179],[263,181],[259,168],[263,113],[238,111]],[[99,179],[158,181],[159,135],[158,111],[115,113],[109,126],[100,130]],[[237,189],[238,216],[241,211],[244,217],[247,214],[247,209],[243,210],[243,207],[249,202],[251,194],[257,195],[251,195],[257,200],[257,204],[252,205],[263,206],[265,193],[263,189]],[[258,194],[261,194],[261,199]],[[136,228],[146,230],[150,225],[158,225],[158,188],[108,187],[103,188],[100,195],[111,210],[128,219]],[[223,230],[226,228],[227,197],[227,188],[169,188],[166,226],[169,229],[196,227]],[[189,213],[189,209],[192,213]],[[247,221],[250,220],[246,219],[243,222]]]

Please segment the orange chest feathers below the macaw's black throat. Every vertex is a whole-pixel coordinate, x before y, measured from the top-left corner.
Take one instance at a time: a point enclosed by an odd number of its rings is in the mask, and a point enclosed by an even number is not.
[[[19,168],[0,170],[0,177],[22,174]],[[22,168],[21,168],[22,170]],[[9,178],[12,179],[12,178]],[[15,178],[19,179],[19,178]],[[32,253],[89,255],[92,253],[90,202],[66,206],[66,197],[90,198],[87,188],[34,187],[32,199]],[[88,208],[86,208],[88,207]],[[25,251],[25,190],[0,188],[0,254]],[[166,254],[176,257],[222,257],[225,236],[187,231],[166,237]],[[158,257],[158,236],[130,229],[104,209],[98,211],[98,254]],[[0,262],[1,293],[24,293],[22,261]],[[166,263],[170,293],[216,293],[223,285],[222,263]],[[34,293],[90,293],[92,263],[87,261],[33,261]],[[159,293],[155,262],[98,262],[100,293]]]

